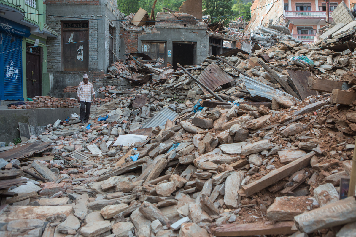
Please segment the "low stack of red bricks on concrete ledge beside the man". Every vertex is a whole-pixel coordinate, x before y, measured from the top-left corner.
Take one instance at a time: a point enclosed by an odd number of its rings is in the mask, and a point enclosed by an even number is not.
[[[35,96],[28,104],[7,107],[8,109],[43,109],[43,108],[74,108],[79,107],[77,99],[57,99],[51,96]]]

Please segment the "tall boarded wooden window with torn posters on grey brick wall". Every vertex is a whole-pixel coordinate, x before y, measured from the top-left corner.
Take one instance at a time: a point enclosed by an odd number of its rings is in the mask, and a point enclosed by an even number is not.
[[[88,70],[88,21],[62,22],[63,71]]]

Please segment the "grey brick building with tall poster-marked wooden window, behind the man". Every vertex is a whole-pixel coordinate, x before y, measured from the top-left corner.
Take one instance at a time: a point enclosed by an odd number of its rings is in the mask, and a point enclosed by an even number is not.
[[[47,41],[50,95],[61,98],[63,89],[78,86],[84,73],[95,90],[109,84],[129,87],[127,81],[110,82],[104,77],[120,55],[123,15],[116,1],[46,0],[46,5],[48,15],[61,15],[47,17],[47,24],[58,33],[58,38]]]

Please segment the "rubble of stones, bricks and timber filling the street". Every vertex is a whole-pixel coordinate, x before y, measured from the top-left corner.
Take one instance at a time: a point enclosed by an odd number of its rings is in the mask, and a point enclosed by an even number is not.
[[[177,70],[114,61],[105,77],[132,89],[95,88],[88,123],[19,123],[27,139],[0,147],[0,236],[352,236],[356,200],[340,200],[340,183],[355,147],[356,45],[331,39],[297,41],[271,21],[251,32],[251,53]],[[15,107],[79,107],[32,99]]]

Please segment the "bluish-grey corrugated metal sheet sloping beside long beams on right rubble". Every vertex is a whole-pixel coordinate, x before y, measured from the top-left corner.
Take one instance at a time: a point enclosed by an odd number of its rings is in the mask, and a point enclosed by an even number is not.
[[[251,93],[252,96],[261,96],[266,99],[270,99],[272,101],[273,97],[280,95],[280,96],[287,96],[290,98],[294,98],[293,96],[289,95],[288,93],[276,90],[270,86],[263,84],[262,82],[256,81],[250,77],[245,76],[244,82],[246,85],[246,90]],[[294,98],[297,101],[299,99]]]

